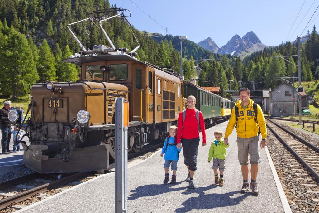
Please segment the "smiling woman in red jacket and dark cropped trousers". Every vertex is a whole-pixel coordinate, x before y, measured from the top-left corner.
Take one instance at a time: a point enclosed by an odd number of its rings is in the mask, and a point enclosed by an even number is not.
[[[187,98],[187,109],[183,123],[183,112],[180,112],[177,123],[177,143],[182,140],[182,148],[184,155],[184,164],[188,169],[188,176],[186,181],[189,181],[188,188],[195,188],[194,186],[194,172],[197,170],[197,150],[199,145],[198,121],[196,118],[196,98],[189,95]],[[206,146],[206,133],[204,117],[201,111],[199,112],[199,125],[203,135],[202,147]]]

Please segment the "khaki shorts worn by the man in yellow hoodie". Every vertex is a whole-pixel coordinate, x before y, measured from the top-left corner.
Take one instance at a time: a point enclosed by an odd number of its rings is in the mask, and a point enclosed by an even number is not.
[[[259,137],[240,138],[237,137],[238,160],[241,165],[248,165],[248,154],[250,164],[259,164]]]

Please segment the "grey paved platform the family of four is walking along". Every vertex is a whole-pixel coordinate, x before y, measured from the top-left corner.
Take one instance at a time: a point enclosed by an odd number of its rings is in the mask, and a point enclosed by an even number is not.
[[[206,130],[207,145],[198,149],[195,189],[187,188],[188,182],[185,179],[188,171],[183,164],[182,152],[175,185],[163,184],[164,169],[160,150],[146,160],[132,161],[134,165],[130,164],[128,169],[127,212],[290,212],[267,149],[261,150],[257,177],[259,195],[254,196],[251,190],[247,194],[240,194],[242,176],[237,156],[236,130],[229,137],[224,186],[214,184],[212,163],[207,162],[208,151],[214,140],[214,131],[220,129],[225,132],[227,123]],[[170,172],[170,178],[171,175]],[[114,188],[114,173],[108,173],[17,212],[42,213],[53,209],[55,212],[68,213],[114,212]]]

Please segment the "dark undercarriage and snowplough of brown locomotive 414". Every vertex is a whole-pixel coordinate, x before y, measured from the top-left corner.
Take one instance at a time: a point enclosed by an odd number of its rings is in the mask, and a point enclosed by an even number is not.
[[[168,124],[130,126],[128,151],[138,152],[152,140],[164,141]],[[30,145],[21,142],[24,164],[39,173],[70,173],[109,168],[114,158],[114,129],[91,130],[90,126],[40,123],[24,125]]]

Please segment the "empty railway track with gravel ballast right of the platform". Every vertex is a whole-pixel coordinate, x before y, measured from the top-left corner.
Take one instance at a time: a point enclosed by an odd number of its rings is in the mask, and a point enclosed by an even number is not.
[[[292,211],[318,211],[319,148],[270,119],[266,124],[270,153]]]

